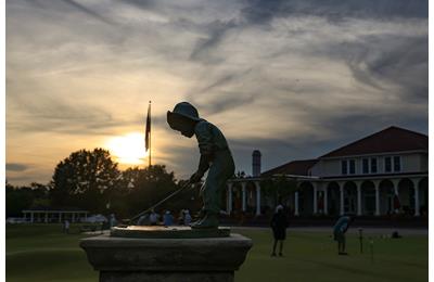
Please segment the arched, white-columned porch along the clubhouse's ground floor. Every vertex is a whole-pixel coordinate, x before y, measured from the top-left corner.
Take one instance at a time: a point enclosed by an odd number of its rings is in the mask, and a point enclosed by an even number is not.
[[[280,176],[281,177],[281,176]],[[353,214],[385,216],[427,215],[427,175],[355,176],[352,178],[316,178],[284,176],[297,182],[298,189],[284,204],[294,216]],[[261,191],[261,182],[272,178],[241,178],[228,181],[226,213],[254,213],[276,205]]]

